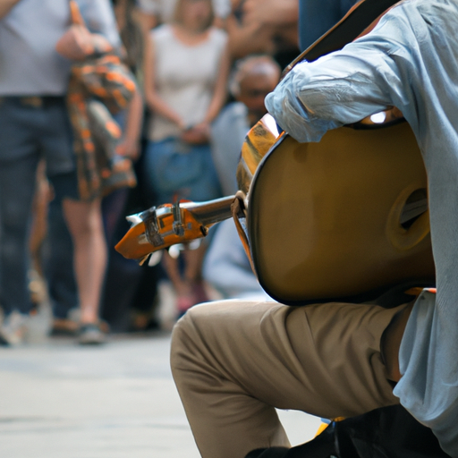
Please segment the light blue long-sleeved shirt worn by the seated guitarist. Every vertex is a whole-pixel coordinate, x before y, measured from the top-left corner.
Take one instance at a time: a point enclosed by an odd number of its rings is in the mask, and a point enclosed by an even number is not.
[[[266,99],[299,141],[397,106],[428,172],[437,295],[415,303],[400,349],[403,406],[458,457],[458,2],[404,0],[375,30],[293,68]]]

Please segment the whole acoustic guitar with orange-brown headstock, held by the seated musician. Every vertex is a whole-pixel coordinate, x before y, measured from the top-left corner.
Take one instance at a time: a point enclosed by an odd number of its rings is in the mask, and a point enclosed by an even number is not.
[[[392,4],[363,0],[293,64],[343,47]],[[396,284],[434,283],[427,176],[395,108],[328,131],[319,143],[276,131],[266,115],[247,135],[237,175],[237,196],[129,216],[116,250],[141,262],[233,216],[259,283],[276,301],[354,301]]]

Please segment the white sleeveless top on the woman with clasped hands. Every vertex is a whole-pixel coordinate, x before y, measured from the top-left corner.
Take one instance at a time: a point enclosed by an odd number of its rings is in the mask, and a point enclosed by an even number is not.
[[[197,46],[184,45],[168,24],[151,31],[155,45],[155,80],[158,95],[182,117],[186,125],[201,123],[213,97],[227,36],[212,29]],[[149,140],[177,137],[176,124],[153,113],[148,124]]]

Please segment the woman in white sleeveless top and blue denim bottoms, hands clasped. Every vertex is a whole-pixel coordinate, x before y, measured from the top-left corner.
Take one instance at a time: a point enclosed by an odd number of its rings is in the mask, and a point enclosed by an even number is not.
[[[158,204],[220,196],[209,147],[209,124],[225,103],[229,72],[227,37],[212,26],[211,0],[178,0],[174,21],[152,30],[145,59],[145,98],[151,112],[143,173]],[[165,253],[165,270],[177,293],[180,314],[202,300],[205,246]]]

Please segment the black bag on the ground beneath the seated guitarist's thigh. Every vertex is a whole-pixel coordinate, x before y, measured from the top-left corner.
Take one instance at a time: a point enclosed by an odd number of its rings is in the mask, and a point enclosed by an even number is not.
[[[253,450],[245,458],[450,458],[401,405],[333,421],[310,442]]]

